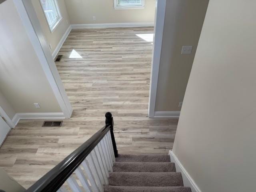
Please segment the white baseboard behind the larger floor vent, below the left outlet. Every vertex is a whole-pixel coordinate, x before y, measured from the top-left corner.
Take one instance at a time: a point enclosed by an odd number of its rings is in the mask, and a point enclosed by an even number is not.
[[[12,122],[17,125],[20,119],[64,119],[64,113],[16,113]]]

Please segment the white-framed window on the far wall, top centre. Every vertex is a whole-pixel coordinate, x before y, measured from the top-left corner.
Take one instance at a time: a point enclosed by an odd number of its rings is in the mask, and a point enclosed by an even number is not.
[[[144,8],[144,0],[114,0],[115,9],[140,9]]]

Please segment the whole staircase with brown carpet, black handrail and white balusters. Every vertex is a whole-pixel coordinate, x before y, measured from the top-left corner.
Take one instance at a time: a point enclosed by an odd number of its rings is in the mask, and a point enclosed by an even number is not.
[[[191,192],[167,154],[118,154],[112,114],[26,192]]]

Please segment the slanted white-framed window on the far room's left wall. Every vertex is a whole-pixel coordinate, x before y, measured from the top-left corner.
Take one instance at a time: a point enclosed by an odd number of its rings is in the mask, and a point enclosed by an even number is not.
[[[57,0],[40,0],[40,2],[49,28],[53,32],[62,19],[58,2]]]

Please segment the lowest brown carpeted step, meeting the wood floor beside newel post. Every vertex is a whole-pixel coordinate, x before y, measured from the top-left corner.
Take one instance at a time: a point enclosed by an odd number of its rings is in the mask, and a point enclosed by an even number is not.
[[[168,154],[119,154],[116,162],[170,162]]]

